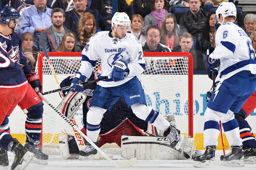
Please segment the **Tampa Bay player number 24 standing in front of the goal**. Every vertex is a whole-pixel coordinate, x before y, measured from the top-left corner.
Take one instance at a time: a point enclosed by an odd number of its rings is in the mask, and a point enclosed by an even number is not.
[[[103,114],[123,96],[133,113],[142,120],[164,131],[170,139],[170,146],[180,149],[184,136],[164,119],[159,112],[147,107],[140,75],[145,68],[142,47],[137,38],[126,34],[130,29],[130,19],[124,12],[116,12],[112,18],[112,31],[94,34],[82,51],[81,67],[72,80],[70,89],[81,92],[78,80],[85,82],[92,74],[98,56],[101,58],[101,76],[111,75],[111,79],[100,81],[92,96],[87,113],[87,137],[96,145]],[[125,76],[124,76],[125,75]],[[107,113],[106,113],[107,114]],[[84,156],[96,154],[88,142],[82,151]]]

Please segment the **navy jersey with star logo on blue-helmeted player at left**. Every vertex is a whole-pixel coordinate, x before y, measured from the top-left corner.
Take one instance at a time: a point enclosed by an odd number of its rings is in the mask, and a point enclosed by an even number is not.
[[[4,49],[7,51],[8,57],[21,65],[25,75],[30,74],[31,69],[21,48],[22,38],[20,33],[14,31],[13,34],[7,36],[0,33],[0,42],[2,42]]]

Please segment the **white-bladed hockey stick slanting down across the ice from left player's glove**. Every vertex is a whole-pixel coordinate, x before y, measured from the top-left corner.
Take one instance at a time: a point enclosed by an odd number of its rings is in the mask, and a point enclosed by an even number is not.
[[[68,118],[63,115],[56,107],[54,107],[41,93],[38,95],[58,114],[62,119],[64,119],[72,128],[74,128],[82,137],[86,139],[100,154],[106,158],[109,162],[111,162],[117,168],[124,168],[135,165],[138,163],[137,158],[132,158],[125,160],[123,162],[116,163],[112,159],[110,159],[97,145],[95,145],[80,129],[78,129],[72,122],[68,120]]]

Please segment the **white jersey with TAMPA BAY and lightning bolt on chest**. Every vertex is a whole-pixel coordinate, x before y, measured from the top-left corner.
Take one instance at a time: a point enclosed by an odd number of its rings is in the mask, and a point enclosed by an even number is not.
[[[101,58],[101,76],[109,76],[118,60],[124,60],[128,64],[129,75],[121,81],[100,81],[102,87],[122,85],[140,75],[145,68],[145,60],[142,47],[138,39],[126,33],[124,38],[114,38],[108,31],[94,34],[82,51],[82,62],[79,72],[87,78],[91,76],[98,56]]]

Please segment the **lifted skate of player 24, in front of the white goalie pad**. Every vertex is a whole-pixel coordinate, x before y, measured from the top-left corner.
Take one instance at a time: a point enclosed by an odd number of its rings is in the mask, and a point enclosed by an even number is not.
[[[170,146],[177,150],[180,150],[184,136],[180,133],[179,129],[176,129],[172,125],[164,131],[164,137],[169,137]]]

